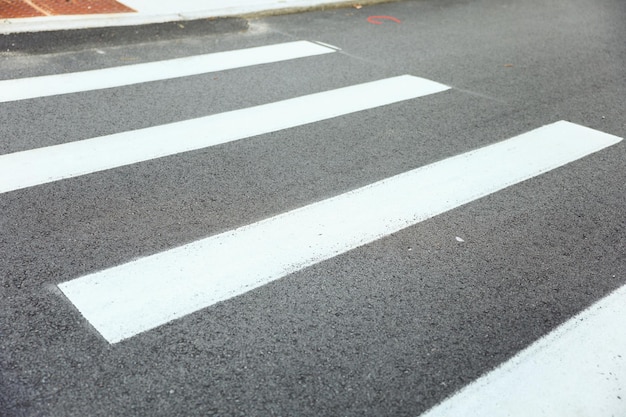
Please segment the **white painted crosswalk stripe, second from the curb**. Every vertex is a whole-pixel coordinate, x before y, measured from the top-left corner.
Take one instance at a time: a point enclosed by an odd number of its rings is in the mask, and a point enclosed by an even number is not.
[[[0,193],[318,122],[448,88],[403,75],[184,122],[0,155]]]

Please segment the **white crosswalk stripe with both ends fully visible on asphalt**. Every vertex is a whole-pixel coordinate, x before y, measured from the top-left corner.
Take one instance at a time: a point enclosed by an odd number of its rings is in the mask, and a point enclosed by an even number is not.
[[[557,122],[59,287],[119,342],[620,140]]]

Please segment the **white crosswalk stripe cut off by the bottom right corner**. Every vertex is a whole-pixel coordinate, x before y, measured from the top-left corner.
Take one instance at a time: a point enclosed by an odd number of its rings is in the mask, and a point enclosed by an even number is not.
[[[626,287],[422,417],[626,415]]]

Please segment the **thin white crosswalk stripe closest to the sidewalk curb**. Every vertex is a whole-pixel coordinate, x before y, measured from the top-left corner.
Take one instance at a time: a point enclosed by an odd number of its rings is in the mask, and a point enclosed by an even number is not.
[[[167,61],[0,81],[0,102],[121,87],[335,52],[317,43],[287,42]]]

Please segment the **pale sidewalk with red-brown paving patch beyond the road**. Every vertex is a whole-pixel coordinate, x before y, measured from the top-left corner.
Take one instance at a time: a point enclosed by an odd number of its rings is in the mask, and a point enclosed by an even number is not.
[[[0,34],[131,26],[382,0],[0,0]]]

